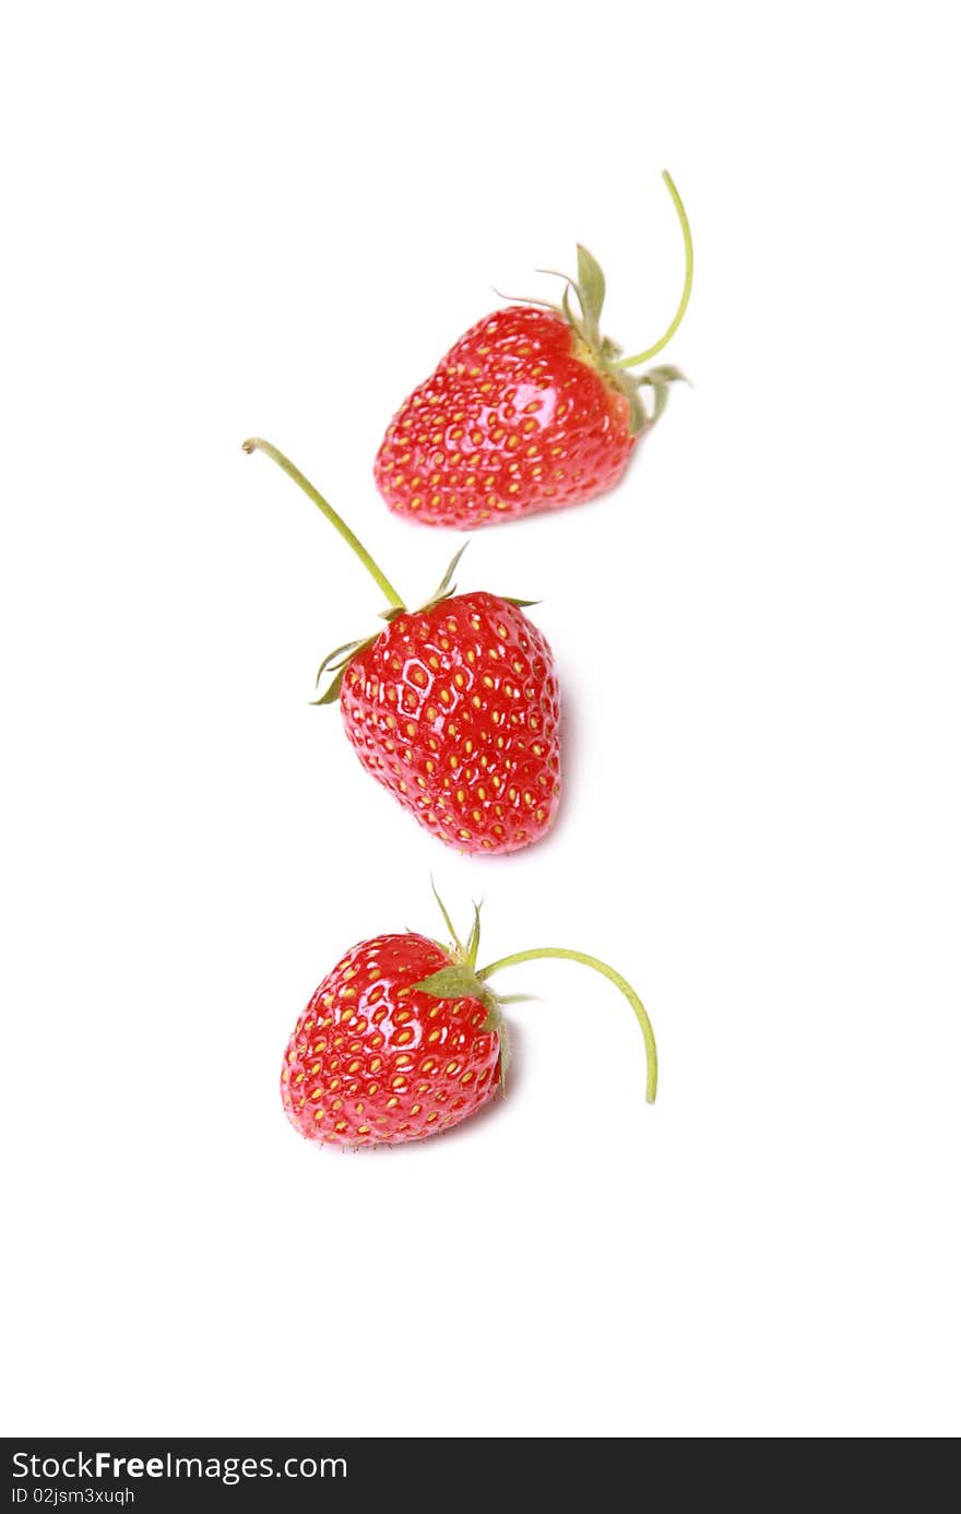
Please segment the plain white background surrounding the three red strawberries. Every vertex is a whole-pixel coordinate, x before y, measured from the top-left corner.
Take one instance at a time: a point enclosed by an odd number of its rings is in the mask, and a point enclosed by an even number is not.
[[[8,1434],[944,1435],[958,1354],[956,77],[941,5],[21,6],[3,114]],[[587,30],[584,29],[587,26]],[[533,269],[695,388],[627,483],[478,533],[540,598],[563,818],[446,852],[321,653],[457,545],[371,480]],[[549,288],[549,286],[548,286]],[[508,1099],[301,1143],[350,943],[504,975]]]

